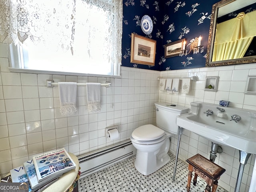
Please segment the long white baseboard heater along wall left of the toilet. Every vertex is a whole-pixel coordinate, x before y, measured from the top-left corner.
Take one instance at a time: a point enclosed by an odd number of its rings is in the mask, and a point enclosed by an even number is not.
[[[120,162],[133,155],[131,140],[116,143],[99,150],[78,156],[80,178],[84,178],[112,164]]]

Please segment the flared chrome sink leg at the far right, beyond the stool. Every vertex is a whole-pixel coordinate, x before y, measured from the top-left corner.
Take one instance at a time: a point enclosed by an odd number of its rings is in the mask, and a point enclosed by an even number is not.
[[[250,155],[251,155],[250,153],[246,153],[245,151],[240,151],[239,150],[240,165],[239,165],[238,175],[237,175],[237,179],[236,179],[235,192],[239,192],[239,190],[240,190],[240,186],[241,186],[241,182],[242,182],[242,176],[243,176],[243,172],[244,172],[244,166],[246,165]]]

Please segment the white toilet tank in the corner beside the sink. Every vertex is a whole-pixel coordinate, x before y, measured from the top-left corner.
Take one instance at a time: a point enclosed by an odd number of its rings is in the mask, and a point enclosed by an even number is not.
[[[156,106],[156,126],[167,132],[178,134],[176,116],[188,113],[188,107],[170,106],[168,103],[155,103]]]

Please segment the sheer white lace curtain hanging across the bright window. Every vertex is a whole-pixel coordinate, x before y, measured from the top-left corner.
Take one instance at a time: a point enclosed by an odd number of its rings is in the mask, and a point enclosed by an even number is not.
[[[76,38],[90,58],[108,50],[104,59],[121,64],[122,1],[0,0],[0,42],[31,41],[73,54]]]

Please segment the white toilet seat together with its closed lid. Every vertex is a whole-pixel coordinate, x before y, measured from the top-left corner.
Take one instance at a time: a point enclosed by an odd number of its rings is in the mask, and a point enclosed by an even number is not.
[[[154,125],[143,125],[132,132],[131,138],[138,144],[154,144],[165,139],[165,131]]]

